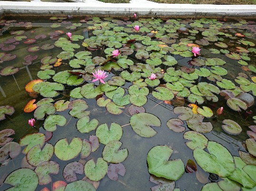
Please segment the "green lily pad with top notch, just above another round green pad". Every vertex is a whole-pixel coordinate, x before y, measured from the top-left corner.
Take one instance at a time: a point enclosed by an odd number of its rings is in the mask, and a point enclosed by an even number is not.
[[[123,129],[118,123],[111,123],[109,129],[108,125],[103,123],[96,129],[96,136],[103,145],[107,145],[110,141],[119,141],[122,135]]]

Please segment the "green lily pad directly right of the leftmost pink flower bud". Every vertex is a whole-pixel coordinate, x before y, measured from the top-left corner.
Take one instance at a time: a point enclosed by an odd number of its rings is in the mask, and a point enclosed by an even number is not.
[[[62,115],[49,115],[44,121],[44,128],[47,131],[55,131],[57,126],[64,126],[67,119]]]

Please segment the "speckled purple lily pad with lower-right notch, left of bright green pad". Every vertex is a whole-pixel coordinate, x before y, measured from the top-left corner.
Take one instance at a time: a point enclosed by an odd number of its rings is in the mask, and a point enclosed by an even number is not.
[[[84,173],[84,165],[79,162],[71,162],[65,166],[63,169],[63,177],[68,182],[77,181],[77,174]]]

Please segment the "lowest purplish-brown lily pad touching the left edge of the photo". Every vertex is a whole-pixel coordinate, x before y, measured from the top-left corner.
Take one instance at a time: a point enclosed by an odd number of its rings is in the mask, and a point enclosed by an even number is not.
[[[0,148],[0,162],[3,162],[5,159],[10,156],[10,158],[15,158],[20,155],[21,146],[19,143],[10,142],[7,143],[5,146]]]

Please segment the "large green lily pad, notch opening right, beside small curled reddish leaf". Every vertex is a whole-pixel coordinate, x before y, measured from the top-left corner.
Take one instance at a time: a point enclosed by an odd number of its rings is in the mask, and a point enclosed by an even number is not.
[[[148,172],[157,177],[178,180],[185,172],[181,159],[169,160],[173,150],[168,146],[154,146],[147,156]]]

